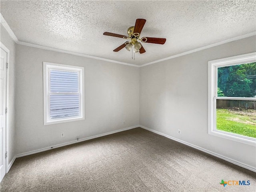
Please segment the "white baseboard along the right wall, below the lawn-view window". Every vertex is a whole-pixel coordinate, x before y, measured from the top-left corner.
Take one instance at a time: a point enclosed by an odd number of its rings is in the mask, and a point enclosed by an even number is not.
[[[256,172],[256,168],[253,167],[253,166],[250,166],[250,165],[244,164],[244,163],[242,163],[242,162],[239,162],[239,161],[237,161],[237,160],[228,158],[228,157],[226,157],[226,156],[223,156],[223,155],[214,153],[214,152],[212,152],[212,151],[206,150],[206,149],[204,149],[204,148],[198,147],[198,146],[193,145],[193,144],[190,144],[190,143],[188,143],[188,142],[185,142],[185,141],[182,141],[182,140],[173,138],[173,137],[171,137],[171,136],[168,136],[168,135],[166,135],[166,134],[163,134],[163,133],[160,133],[160,132],[158,132],[158,131],[152,130],[152,129],[150,129],[150,128],[147,128],[147,127],[144,127],[144,126],[141,126],[141,125],[140,125],[140,127],[143,128],[143,129],[146,129],[146,130],[148,130],[148,131],[151,131],[151,132],[153,132],[153,133],[156,133],[156,134],[158,134],[158,135],[165,136],[165,137],[167,137],[167,138],[169,138],[169,139],[172,139],[172,140],[174,140],[174,141],[177,141],[177,142],[180,142],[180,143],[185,144],[185,145],[187,145],[187,146],[190,146],[190,147],[192,147],[192,148],[195,148],[195,149],[197,149],[197,150],[200,150],[200,151],[202,151],[202,152],[205,152],[205,153],[208,153],[208,154],[210,154],[210,155],[216,156],[216,157],[218,157],[218,158],[220,158],[220,159],[226,160],[226,161],[228,161],[228,162],[230,162],[230,163],[232,163],[232,164],[235,164],[235,165],[238,165],[238,166],[240,166],[240,167],[243,167],[243,168],[246,168],[246,169],[248,169],[248,170],[251,170],[251,171],[253,171],[253,172]]]

